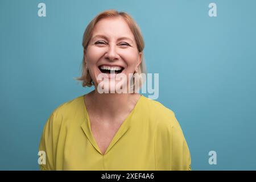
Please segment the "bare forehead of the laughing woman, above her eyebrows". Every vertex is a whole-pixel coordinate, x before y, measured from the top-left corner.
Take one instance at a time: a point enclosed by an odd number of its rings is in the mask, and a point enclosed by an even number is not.
[[[98,34],[105,35],[108,38],[127,36],[134,40],[133,32],[131,32],[130,27],[122,17],[103,18],[98,21],[93,28],[92,36]]]

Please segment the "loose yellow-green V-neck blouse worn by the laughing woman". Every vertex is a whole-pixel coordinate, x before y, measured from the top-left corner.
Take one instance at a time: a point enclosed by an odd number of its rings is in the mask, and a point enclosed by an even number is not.
[[[84,96],[52,112],[39,151],[46,154],[41,170],[191,170],[189,148],[174,112],[145,96],[104,155],[93,138]]]

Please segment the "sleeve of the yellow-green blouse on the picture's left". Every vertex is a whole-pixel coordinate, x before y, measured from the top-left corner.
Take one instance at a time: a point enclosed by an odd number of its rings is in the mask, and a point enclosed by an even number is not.
[[[39,144],[39,154],[44,154],[46,159],[39,163],[40,170],[55,170],[56,146],[59,134],[60,118],[57,117],[56,110],[52,112],[44,125],[42,137]],[[43,162],[44,161],[44,162]]]

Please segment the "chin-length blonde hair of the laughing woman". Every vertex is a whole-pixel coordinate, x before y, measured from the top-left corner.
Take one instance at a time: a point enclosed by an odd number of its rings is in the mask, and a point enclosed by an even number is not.
[[[98,14],[95,18],[92,19],[92,21],[88,24],[88,26],[86,27],[85,31],[84,31],[84,36],[82,38],[82,47],[84,47],[84,49],[86,50],[86,48],[88,47],[88,43],[90,41],[90,39],[92,38],[92,31],[93,28],[96,26],[96,23],[103,18],[115,18],[121,16],[126,23],[128,24],[128,26],[130,27],[131,32],[133,32],[134,38],[135,38],[135,42],[137,44],[137,48],[138,51],[142,53],[142,57],[141,57],[141,64],[139,65],[138,68],[138,74],[140,73],[146,73],[146,64],[144,62],[144,55],[143,55],[143,49],[144,49],[144,40],[141,34],[141,30],[139,28],[139,26],[137,25],[137,23],[134,21],[133,18],[131,18],[131,16],[125,12],[118,12],[116,10],[106,10],[103,11],[102,13]],[[88,71],[88,69],[86,69],[86,65],[85,65],[85,61],[84,61],[84,56],[82,58],[82,75],[79,78],[76,78],[76,80],[82,81],[82,86],[92,86],[94,85],[92,77],[90,76],[90,73]],[[144,80],[142,77],[139,78],[139,88],[141,88]],[[135,81],[133,82],[133,87],[135,85]]]

